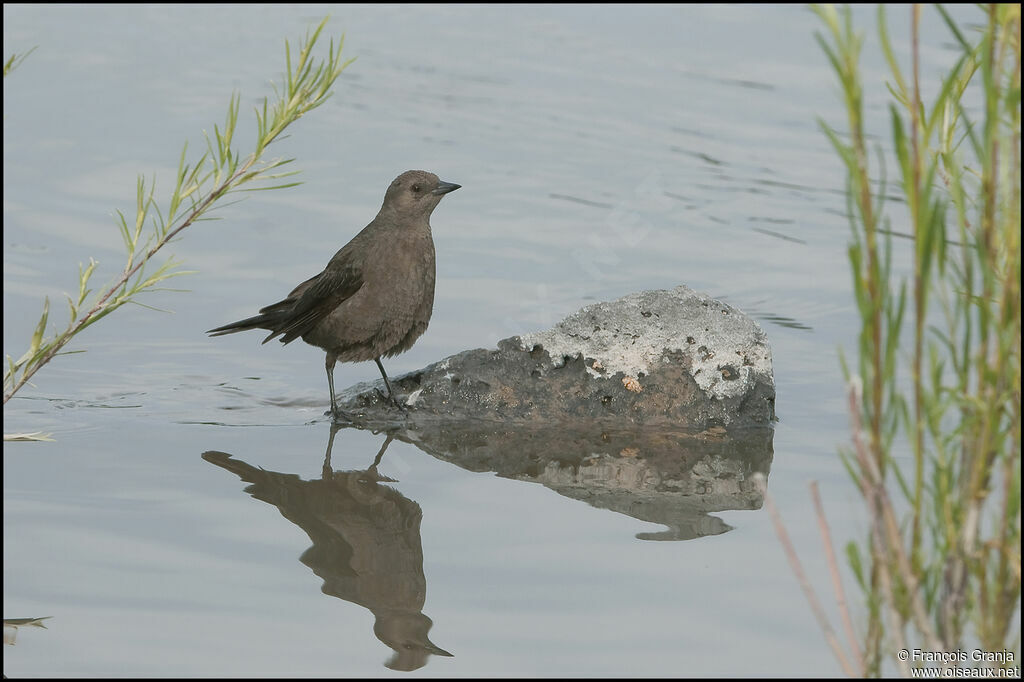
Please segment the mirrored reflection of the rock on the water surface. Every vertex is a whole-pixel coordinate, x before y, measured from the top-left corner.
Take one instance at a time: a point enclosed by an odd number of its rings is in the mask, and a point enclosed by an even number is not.
[[[753,474],[768,476],[771,428],[700,433],[593,424],[418,424],[392,432],[470,471],[541,483],[599,509],[660,523],[640,540],[692,540],[731,530],[712,512],[760,509]]]

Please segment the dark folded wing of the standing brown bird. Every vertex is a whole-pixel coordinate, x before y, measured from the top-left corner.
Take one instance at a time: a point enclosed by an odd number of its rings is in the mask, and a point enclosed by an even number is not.
[[[362,287],[362,272],[351,262],[332,263],[328,269],[296,287],[283,301],[272,303],[260,312],[276,312],[280,323],[263,339],[266,343],[280,336],[289,343],[309,332],[321,321]]]

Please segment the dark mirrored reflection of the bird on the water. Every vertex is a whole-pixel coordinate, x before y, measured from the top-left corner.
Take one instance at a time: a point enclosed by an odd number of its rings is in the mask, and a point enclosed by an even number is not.
[[[386,667],[414,671],[425,666],[430,654],[451,656],[427,638],[433,622],[423,613],[423,511],[383,485],[395,481],[377,471],[392,437],[386,437],[369,468],[334,471],[331,450],[338,428],[331,427],[318,480],[266,471],[226,453],[203,453],[203,459],[250,483],[246,493],[274,505],[305,530],[313,544],[299,560],[324,581],[325,594],[374,614],[374,634],[394,650]]]

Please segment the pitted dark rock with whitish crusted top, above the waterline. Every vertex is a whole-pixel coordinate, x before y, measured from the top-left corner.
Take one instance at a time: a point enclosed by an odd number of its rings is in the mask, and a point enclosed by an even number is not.
[[[347,389],[339,404],[361,426],[486,419],[599,421],[705,430],[769,426],[771,349],[761,327],[685,286],[589,305],[554,328],[466,350],[392,379],[408,414]]]

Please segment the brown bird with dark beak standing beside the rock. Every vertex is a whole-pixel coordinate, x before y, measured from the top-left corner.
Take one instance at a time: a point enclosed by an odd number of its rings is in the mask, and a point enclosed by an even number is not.
[[[406,171],[388,185],[377,216],[334,254],[323,272],[260,308],[259,314],[207,334],[262,329],[270,332],[263,343],[301,338],[322,348],[335,419],[345,417],[334,391],[335,365],[372,359],[384,378],[386,400],[404,410],[381,358],[409,350],[427,330],[435,280],[430,214],[444,195],[461,186],[428,171]],[[383,397],[380,389],[378,393]]]

